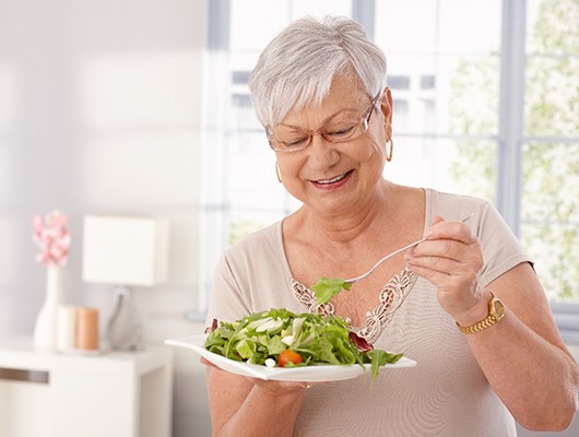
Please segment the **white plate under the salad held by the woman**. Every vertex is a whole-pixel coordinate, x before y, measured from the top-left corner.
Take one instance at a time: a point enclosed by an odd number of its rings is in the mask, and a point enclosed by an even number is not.
[[[364,366],[354,364],[352,366],[327,365],[270,368],[265,366],[259,366],[257,364],[236,362],[222,355],[214,354],[213,352],[209,352],[205,349],[206,338],[206,334],[200,334],[179,339],[169,339],[165,340],[165,344],[191,349],[223,370],[231,371],[232,374],[249,376],[252,378],[271,379],[276,381],[323,382],[352,379],[364,375],[365,373],[371,375],[371,365],[369,364],[365,364]],[[413,367],[415,365],[415,361],[403,356],[394,364],[387,364],[386,366],[380,367],[380,371],[390,368]]]

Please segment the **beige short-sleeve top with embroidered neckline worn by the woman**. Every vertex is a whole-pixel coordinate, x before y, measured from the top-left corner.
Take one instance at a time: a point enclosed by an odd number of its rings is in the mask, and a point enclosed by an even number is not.
[[[426,227],[434,215],[460,220],[482,243],[488,284],[530,262],[515,235],[487,202],[425,189]],[[285,258],[282,222],[228,248],[220,260],[208,312],[210,321],[237,320],[250,312],[311,306]],[[375,347],[402,352],[416,367],[381,371],[370,387],[364,377],[318,385],[306,392],[294,436],[511,437],[515,421],[489,387],[454,320],[438,304],[435,287],[403,271],[385,284],[385,302],[358,327]],[[381,305],[381,306],[380,306]],[[390,309],[397,307],[395,312]]]

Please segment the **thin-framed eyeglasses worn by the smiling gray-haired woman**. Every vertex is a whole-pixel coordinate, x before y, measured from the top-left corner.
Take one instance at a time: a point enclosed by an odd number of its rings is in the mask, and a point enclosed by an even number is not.
[[[350,119],[324,126],[318,130],[298,130],[291,132],[268,132],[270,147],[275,152],[298,152],[311,144],[314,135],[318,133],[331,143],[353,141],[368,130],[371,113],[378,103],[380,94],[371,101],[371,105],[359,119]]]

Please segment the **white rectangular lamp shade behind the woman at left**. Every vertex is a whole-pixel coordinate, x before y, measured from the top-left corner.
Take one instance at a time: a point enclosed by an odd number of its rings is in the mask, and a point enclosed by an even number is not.
[[[162,218],[87,215],[85,282],[153,286],[167,280],[168,223]]]

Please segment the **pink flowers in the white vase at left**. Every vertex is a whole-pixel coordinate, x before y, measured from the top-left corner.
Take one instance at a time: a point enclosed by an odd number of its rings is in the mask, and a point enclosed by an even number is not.
[[[36,255],[36,262],[64,265],[71,244],[68,231],[69,217],[60,211],[52,211],[45,217],[36,214],[32,225],[32,238],[40,249]]]

